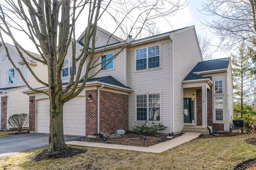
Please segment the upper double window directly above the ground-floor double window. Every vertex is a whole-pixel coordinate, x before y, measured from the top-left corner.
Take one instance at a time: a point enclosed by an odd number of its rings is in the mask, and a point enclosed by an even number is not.
[[[160,67],[160,45],[136,50],[136,70]]]

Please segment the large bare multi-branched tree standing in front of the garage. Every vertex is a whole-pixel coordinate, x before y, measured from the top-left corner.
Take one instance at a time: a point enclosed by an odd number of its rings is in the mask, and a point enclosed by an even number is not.
[[[113,33],[118,29],[122,29],[126,23],[131,23],[132,27],[128,32],[130,34],[134,29],[144,29],[146,23],[150,20],[174,14],[177,10],[186,6],[186,4],[186,0],[157,0],[155,2],[146,0],[2,1],[0,5],[0,19],[2,21],[0,24],[0,37],[6,49],[7,57],[30,90],[49,96],[49,150],[56,151],[66,148],[63,135],[63,105],[65,102],[75,98],[84,89],[87,79],[91,78],[88,77],[88,72],[92,68],[102,64],[92,60],[95,48],[96,27],[102,16],[109,15],[116,23]],[[76,27],[78,26],[76,21],[80,17],[84,18],[87,24],[84,28],[84,47],[77,57],[76,43],[73,40],[76,39]],[[38,54],[40,54],[40,59],[30,55],[22,47],[22,43],[19,43],[18,38],[14,37],[14,31],[19,31],[29,37],[29,41],[34,43],[34,47],[37,49]],[[3,35],[7,35],[12,39],[22,61],[24,61],[34,78],[42,83],[42,86],[48,87],[48,91],[35,89],[26,82],[22,72],[10,58]],[[92,43],[92,49],[89,48],[90,41]],[[128,44],[125,41],[120,51]],[[74,76],[75,69],[72,69],[68,84],[62,86],[62,65],[70,45],[72,45],[72,68],[75,68],[76,63],[78,63],[78,67],[76,77]],[[36,62],[44,63],[48,66],[48,82],[43,82],[38,78],[26,62],[23,53],[29,55]],[[104,50],[102,50],[102,53],[104,53]],[[118,53],[108,59],[107,62],[111,62],[117,55]],[[81,75],[82,66],[85,64],[85,61],[86,71],[84,75]]]

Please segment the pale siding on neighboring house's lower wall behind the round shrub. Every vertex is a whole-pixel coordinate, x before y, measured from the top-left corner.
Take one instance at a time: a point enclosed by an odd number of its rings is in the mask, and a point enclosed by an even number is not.
[[[7,92],[10,92],[9,116],[22,113],[29,114],[29,96],[22,93],[22,91],[25,89],[26,87],[20,87],[10,89],[8,91],[6,90]]]

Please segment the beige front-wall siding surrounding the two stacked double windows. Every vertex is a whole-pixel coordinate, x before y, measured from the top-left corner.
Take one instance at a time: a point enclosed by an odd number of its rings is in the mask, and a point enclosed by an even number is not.
[[[152,45],[160,45],[160,68],[136,71],[135,50]],[[129,84],[134,90],[129,95],[129,130],[142,123],[136,121],[136,93],[148,91],[160,92],[160,122],[167,128],[163,133],[170,132],[170,40],[162,43],[151,43],[129,49]],[[157,121],[155,123],[158,123]]]

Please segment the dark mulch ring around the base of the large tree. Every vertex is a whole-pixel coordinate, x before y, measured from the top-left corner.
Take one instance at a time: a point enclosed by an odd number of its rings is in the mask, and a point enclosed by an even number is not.
[[[56,152],[51,152],[48,149],[45,149],[36,154],[31,154],[27,158],[29,160],[34,160],[38,162],[41,160],[48,160],[48,159],[69,158],[69,157],[77,156],[79,154],[86,153],[86,152],[87,150],[85,149],[78,149],[78,148],[72,148],[72,147],[63,148]]]

